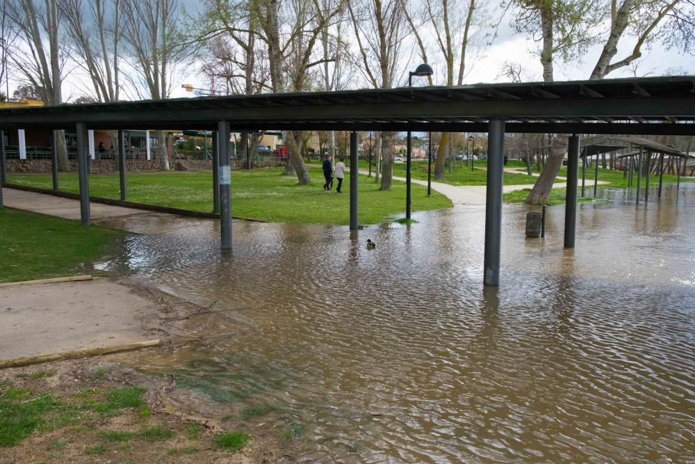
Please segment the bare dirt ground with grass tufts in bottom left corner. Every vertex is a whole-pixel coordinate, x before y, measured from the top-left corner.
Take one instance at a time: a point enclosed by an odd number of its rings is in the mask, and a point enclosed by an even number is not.
[[[162,349],[166,349],[163,347]],[[0,447],[0,464],[9,463],[276,463],[290,462],[277,439],[250,433],[250,443],[240,451],[215,446],[220,431],[244,429],[243,424],[220,424],[204,417],[163,411],[167,394],[166,378],[147,378],[120,368],[126,353],[101,358],[49,362],[42,365],[0,370],[0,399],[8,387],[28,390],[29,399],[50,392],[56,399],[78,411],[70,419],[50,417],[47,426],[31,433],[19,445]],[[124,408],[100,414],[81,406],[85,399],[103,399],[111,390],[129,385],[145,387],[142,398],[147,406]],[[65,410],[67,406],[63,407]],[[143,409],[144,408],[144,409]],[[143,411],[145,413],[143,413]],[[51,424],[58,422],[51,430]],[[198,424],[197,434],[191,424]],[[1,429],[0,424],[0,429]],[[148,440],[143,431],[153,428],[170,431],[170,438]],[[106,432],[131,433],[132,438],[114,441]],[[197,435],[197,436],[195,436]]]

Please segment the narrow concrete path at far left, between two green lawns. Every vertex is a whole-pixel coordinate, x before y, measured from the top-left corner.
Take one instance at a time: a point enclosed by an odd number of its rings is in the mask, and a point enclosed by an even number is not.
[[[49,216],[58,216],[59,218],[74,219],[76,221],[79,221],[81,218],[79,200],[17,189],[2,189],[2,195],[3,203],[6,207],[26,209],[26,211],[48,214]],[[135,214],[152,214],[152,211],[90,202],[90,216],[92,222],[98,223],[111,218],[133,216]]]

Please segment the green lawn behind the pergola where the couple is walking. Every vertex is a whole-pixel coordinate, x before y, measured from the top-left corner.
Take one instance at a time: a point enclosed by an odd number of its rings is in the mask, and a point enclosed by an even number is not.
[[[350,176],[343,181],[343,192],[322,188],[323,173],[311,168],[312,184],[300,186],[297,177],[282,176],[279,168],[235,170],[231,175],[231,211],[237,218],[287,223],[350,223]],[[61,173],[60,189],[78,193],[77,173]],[[90,175],[90,194],[103,198],[120,198],[118,175]],[[128,173],[128,200],[150,205],[210,212],[213,209],[212,174],[210,171]],[[10,174],[8,183],[51,188],[46,174]],[[444,195],[413,185],[412,209],[425,211],[452,207]],[[391,191],[379,191],[379,184],[360,176],[359,219],[362,224],[393,220],[405,211],[405,184],[393,182]]]

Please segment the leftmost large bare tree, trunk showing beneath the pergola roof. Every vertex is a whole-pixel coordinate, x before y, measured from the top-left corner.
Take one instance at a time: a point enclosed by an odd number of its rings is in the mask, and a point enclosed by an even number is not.
[[[22,83],[38,89],[44,104],[63,103],[65,53],[60,26],[64,18],[58,12],[57,1],[44,0],[43,5],[37,5],[35,0],[6,0],[3,8],[3,19],[17,34],[7,54],[13,74]],[[54,131],[54,137],[58,169],[65,171],[69,168],[65,131]]]

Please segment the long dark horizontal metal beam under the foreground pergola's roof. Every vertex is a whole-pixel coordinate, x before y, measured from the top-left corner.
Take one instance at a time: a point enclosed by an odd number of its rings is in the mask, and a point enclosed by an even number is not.
[[[47,107],[48,109],[49,107]],[[21,125],[33,127],[36,122],[50,124],[70,124],[78,120],[90,121],[90,127],[99,124],[117,127],[119,124],[132,125],[133,114],[137,113],[142,125],[151,127],[152,122],[160,122],[169,127],[198,126],[197,123],[213,122],[222,117],[236,122],[254,120],[254,122],[277,122],[298,120],[359,120],[364,115],[371,119],[398,117],[404,120],[418,118],[494,118],[501,117],[509,120],[515,118],[612,118],[628,120],[630,117],[685,118],[694,120],[692,97],[653,97],[653,98],[577,98],[577,99],[546,99],[530,104],[527,99],[519,100],[482,100],[476,102],[377,102],[345,104],[309,104],[297,102],[291,106],[283,106],[286,111],[277,111],[277,106],[254,106],[240,108],[236,104],[220,108],[188,109],[185,115],[175,111],[175,106],[152,106],[147,109],[117,108],[106,106],[89,108],[83,111],[47,112],[40,109],[23,111],[0,111],[0,125]],[[668,111],[667,111],[668,110]],[[153,127],[154,128],[154,127]],[[589,131],[593,133],[593,131]]]

